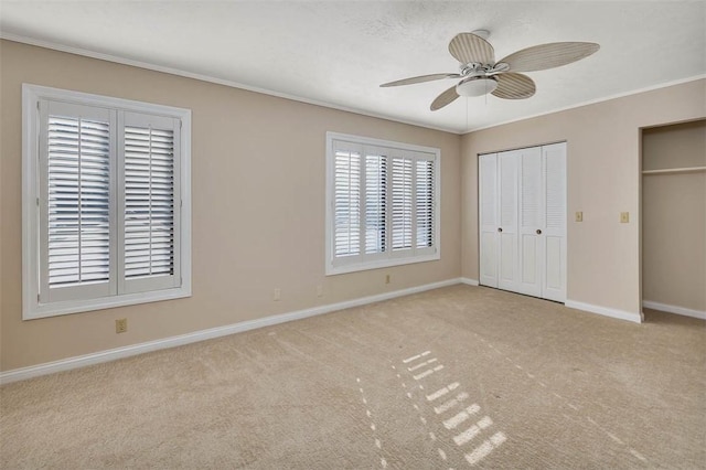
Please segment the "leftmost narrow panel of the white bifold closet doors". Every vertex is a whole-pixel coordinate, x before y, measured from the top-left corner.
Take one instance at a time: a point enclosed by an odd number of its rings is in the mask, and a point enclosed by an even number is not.
[[[479,157],[480,194],[480,284],[498,287],[498,153]]]

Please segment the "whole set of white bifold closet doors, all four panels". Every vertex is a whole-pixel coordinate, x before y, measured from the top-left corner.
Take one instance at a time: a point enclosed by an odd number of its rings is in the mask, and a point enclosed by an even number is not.
[[[566,143],[479,158],[480,284],[566,300]]]

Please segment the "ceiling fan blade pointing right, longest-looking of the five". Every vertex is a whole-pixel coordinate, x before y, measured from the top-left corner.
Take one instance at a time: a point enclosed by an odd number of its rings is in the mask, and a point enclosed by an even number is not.
[[[600,49],[592,42],[553,42],[523,49],[498,63],[510,65],[511,72],[535,72],[559,67],[588,57]]]

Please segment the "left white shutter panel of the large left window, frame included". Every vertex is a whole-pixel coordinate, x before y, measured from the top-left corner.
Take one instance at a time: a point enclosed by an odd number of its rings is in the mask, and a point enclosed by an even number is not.
[[[43,301],[101,297],[111,278],[114,114],[41,103]]]

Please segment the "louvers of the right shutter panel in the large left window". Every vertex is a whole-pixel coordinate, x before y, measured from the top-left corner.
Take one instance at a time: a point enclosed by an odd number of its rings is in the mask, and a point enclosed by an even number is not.
[[[174,274],[174,132],[125,127],[125,278]]]

